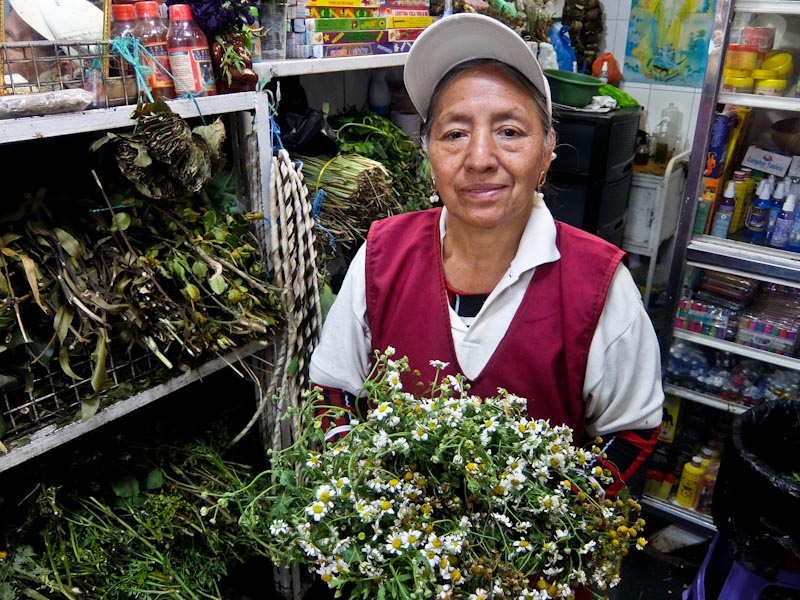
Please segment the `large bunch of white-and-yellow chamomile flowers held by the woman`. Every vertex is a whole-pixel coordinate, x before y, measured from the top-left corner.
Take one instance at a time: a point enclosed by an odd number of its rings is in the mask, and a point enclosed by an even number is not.
[[[259,551],[350,598],[572,598],[615,586],[623,556],[646,543],[644,521],[634,500],[604,497],[599,448],[576,448],[568,427],[529,419],[505,390],[471,395],[461,376],[403,392],[410,367],[393,353],[376,352],[371,409],[347,436],[323,441],[311,392],[296,443],[220,499],[238,504]]]

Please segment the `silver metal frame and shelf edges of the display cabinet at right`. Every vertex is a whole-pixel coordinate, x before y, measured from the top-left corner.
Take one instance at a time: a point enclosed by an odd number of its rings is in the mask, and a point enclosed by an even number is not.
[[[800,18],[800,3],[791,0],[767,2],[719,0],[716,4],[709,38],[717,40],[717,42],[712,43],[709,48],[698,110],[698,122],[692,144],[690,168],[675,237],[675,251],[670,265],[667,299],[667,311],[670,315],[675,315],[677,312],[680,295],[684,290],[684,279],[690,267],[710,269],[779,285],[800,287],[800,255],[798,254],[755,246],[737,239],[721,239],[709,235],[693,234],[698,199],[704,184],[705,154],[709,146],[712,124],[718,106],[739,105],[749,107],[753,111],[778,111],[784,114],[800,111],[800,98],[733,94],[722,91],[725,51],[736,13],[749,13],[752,17],[779,15],[781,18],[790,19],[796,23]],[[790,24],[787,31],[791,26]],[[765,114],[771,114],[771,112]],[[676,340],[755,359],[769,367],[800,370],[800,360],[797,358],[677,328],[663,332],[661,348],[664,360],[667,360],[672,342]],[[667,385],[665,391],[686,401],[704,404],[728,413],[739,413],[746,410],[746,407],[678,386]],[[645,498],[644,502],[653,510],[662,512],[677,522],[689,525],[697,524],[694,514],[687,514],[687,511],[683,510],[673,510],[673,507],[668,506],[669,503],[656,498]],[[710,519],[706,521],[706,524],[713,531],[713,522]]]

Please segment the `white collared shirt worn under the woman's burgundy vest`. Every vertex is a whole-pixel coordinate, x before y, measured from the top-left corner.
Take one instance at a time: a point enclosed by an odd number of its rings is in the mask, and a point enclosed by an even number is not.
[[[439,222],[447,234],[447,209]],[[559,260],[556,227],[550,211],[537,205],[523,232],[508,271],[467,327],[450,309],[450,326],[458,363],[476,377],[505,335],[537,266]],[[310,364],[319,385],[354,395],[367,378],[372,359],[366,306],[366,245],[350,263],[339,294],[322,329]],[[409,315],[409,327],[415,327]],[[664,393],[658,341],[641,295],[624,265],[611,281],[605,306],[589,349],[583,385],[586,432],[591,436],[652,429],[661,423]]]

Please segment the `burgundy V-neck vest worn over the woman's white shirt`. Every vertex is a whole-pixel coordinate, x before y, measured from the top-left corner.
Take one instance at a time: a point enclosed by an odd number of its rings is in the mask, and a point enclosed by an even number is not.
[[[426,391],[435,369],[462,372],[450,330],[439,239],[441,209],[377,221],[367,236],[366,294],[372,347],[408,356],[419,378],[409,392]],[[589,346],[624,253],[584,231],[556,222],[561,259],[536,268],[522,303],[471,392],[495,396],[497,388],[528,399],[531,418],[566,424],[580,443],[583,384]]]

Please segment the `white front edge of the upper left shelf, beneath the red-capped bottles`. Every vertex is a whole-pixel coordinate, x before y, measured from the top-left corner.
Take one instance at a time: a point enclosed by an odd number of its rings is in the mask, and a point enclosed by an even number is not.
[[[169,100],[169,107],[184,118],[232,113],[252,110],[256,106],[257,92],[220,94],[195,100]],[[123,127],[133,127],[135,105],[128,104],[114,108],[97,108],[80,112],[40,117],[22,117],[0,120],[0,143],[24,142],[42,138],[108,131]]]

